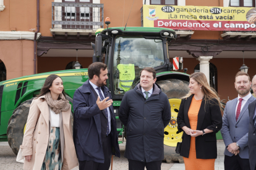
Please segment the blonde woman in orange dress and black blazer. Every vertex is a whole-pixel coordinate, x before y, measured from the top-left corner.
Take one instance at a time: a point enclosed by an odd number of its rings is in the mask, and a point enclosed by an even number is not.
[[[203,73],[189,78],[190,92],[183,97],[177,115],[178,131],[184,132],[180,155],[186,170],[214,170],[216,132],[222,126],[220,99]]]

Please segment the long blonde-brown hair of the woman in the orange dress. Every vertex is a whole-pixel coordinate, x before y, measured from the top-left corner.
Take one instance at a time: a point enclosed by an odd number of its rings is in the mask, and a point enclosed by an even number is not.
[[[189,78],[190,79],[193,78],[198,84],[202,85],[203,99],[205,99],[205,104],[207,102],[210,102],[210,100],[212,101],[212,99],[216,99],[218,101],[218,103],[216,104],[220,106],[220,110],[221,110],[219,95],[215,91],[215,89],[209,86],[205,74],[203,74],[202,72],[195,72],[192,75],[190,75]],[[192,95],[192,93],[189,91],[189,93],[184,97],[182,97],[182,99],[187,99],[187,97],[190,97],[190,95]]]

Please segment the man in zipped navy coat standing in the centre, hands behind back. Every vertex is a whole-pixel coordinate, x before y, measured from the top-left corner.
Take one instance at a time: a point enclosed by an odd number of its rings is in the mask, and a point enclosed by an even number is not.
[[[160,170],[164,158],[164,127],[171,119],[166,94],[155,84],[156,71],[145,67],[140,83],[127,91],[119,108],[119,119],[126,126],[126,152],[129,170]]]

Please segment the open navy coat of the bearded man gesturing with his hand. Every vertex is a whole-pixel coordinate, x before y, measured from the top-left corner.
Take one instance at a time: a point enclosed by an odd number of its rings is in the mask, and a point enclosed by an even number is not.
[[[112,99],[108,87],[103,87],[105,97]],[[96,104],[96,97],[90,89],[89,80],[83,83],[74,94],[74,144],[79,161],[95,161],[104,163],[103,147],[101,145],[101,119],[103,112]],[[116,116],[113,105],[109,107],[111,113],[111,131],[113,155],[120,157],[118,134],[116,130]]]

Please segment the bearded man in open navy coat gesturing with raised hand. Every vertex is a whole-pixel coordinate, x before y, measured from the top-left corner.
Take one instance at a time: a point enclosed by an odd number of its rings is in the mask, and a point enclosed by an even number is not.
[[[88,76],[74,94],[74,143],[79,169],[108,170],[111,155],[120,157],[120,151],[113,100],[105,86],[107,66],[92,63]]]

